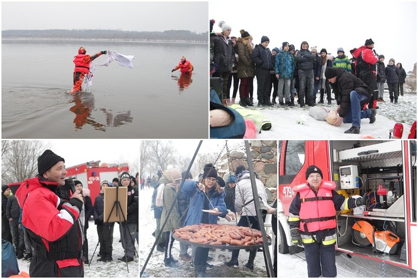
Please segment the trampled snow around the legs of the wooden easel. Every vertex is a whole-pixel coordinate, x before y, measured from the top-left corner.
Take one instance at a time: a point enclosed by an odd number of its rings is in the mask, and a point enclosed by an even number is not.
[[[96,249],[96,245],[99,240],[99,236],[97,235],[96,225],[94,225],[94,221],[89,221],[89,228],[87,229],[87,239],[88,239],[88,248],[89,248],[89,260],[93,255],[93,251]],[[138,257],[135,256],[133,261],[128,262],[129,273],[127,269],[127,265],[125,262],[119,261],[117,258],[123,257],[124,250],[122,248],[122,244],[119,242],[120,239],[120,232],[119,232],[119,225],[115,224],[113,230],[113,254],[112,258],[113,261],[110,262],[100,262],[97,261],[99,258],[97,253],[99,253],[99,246],[97,247],[96,253],[93,257],[93,260],[90,263],[90,266],[87,264],[84,265],[84,277],[86,278],[138,278],[139,277],[139,265],[138,265]],[[138,252],[138,244],[135,241],[135,249]],[[29,273],[29,264],[30,262],[19,259],[19,269],[20,271],[25,271]]]

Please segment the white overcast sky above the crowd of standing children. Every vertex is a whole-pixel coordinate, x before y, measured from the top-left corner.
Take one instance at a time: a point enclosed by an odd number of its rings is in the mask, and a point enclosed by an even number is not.
[[[378,54],[401,62],[406,72],[417,62],[417,1],[398,0],[316,0],[262,1],[260,4],[237,5],[235,1],[210,0],[209,19],[232,27],[231,36],[240,37],[245,29],[260,44],[261,36],[270,39],[268,48],[281,47],[287,41],[300,49],[302,41],[309,47],[325,48],[337,56],[343,48],[350,50],[373,40]]]

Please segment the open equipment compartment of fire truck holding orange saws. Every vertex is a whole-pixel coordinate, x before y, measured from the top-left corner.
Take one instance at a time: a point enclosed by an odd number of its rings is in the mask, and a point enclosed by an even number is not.
[[[356,179],[357,187],[346,189],[348,194],[360,190],[360,195],[369,193],[369,203],[363,214],[354,214],[353,212],[340,213],[337,218],[338,236],[337,249],[346,253],[362,254],[376,259],[382,259],[397,265],[408,266],[407,245],[403,247],[405,240],[408,239],[408,230],[406,229],[407,209],[405,187],[407,184],[403,168],[403,149],[402,141],[330,141],[330,150],[332,150],[331,165],[333,166],[334,181],[337,189],[340,190],[344,178],[340,177],[340,167],[357,166],[358,179]],[[416,154],[412,154],[415,160]],[[411,183],[416,191],[416,167],[412,169]],[[342,173],[341,173],[342,174]],[[416,195],[416,192],[415,192]],[[414,208],[415,214],[416,208]],[[358,212],[357,212],[358,213]],[[371,228],[375,228],[372,233],[374,243],[356,242],[357,238],[366,239],[363,231],[356,231],[353,226],[358,227],[359,221],[366,221]],[[356,225],[357,224],[357,225]],[[360,222],[360,224],[366,224]],[[362,228],[365,229],[366,228]],[[393,247],[391,253],[384,253],[376,249],[378,241],[375,237],[375,231],[382,234],[397,236],[400,238],[399,243]],[[391,234],[392,233],[392,234]],[[360,240],[362,240],[360,239]],[[385,236],[382,240],[386,248],[389,240]]]

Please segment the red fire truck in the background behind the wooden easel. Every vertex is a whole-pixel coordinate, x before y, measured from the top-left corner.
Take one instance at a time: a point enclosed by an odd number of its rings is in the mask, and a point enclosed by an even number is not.
[[[100,183],[103,180],[112,183],[113,178],[117,178],[119,173],[129,172],[129,166],[128,163],[107,164],[100,163],[100,161],[90,161],[66,168],[66,170],[66,178],[79,180],[83,184],[83,188],[90,190],[90,197],[94,203],[96,196],[100,193]]]

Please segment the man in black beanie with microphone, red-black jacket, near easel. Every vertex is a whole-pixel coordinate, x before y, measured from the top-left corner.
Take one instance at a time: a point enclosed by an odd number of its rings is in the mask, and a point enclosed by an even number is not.
[[[46,150],[38,157],[38,175],[16,191],[34,248],[30,277],[84,277],[83,198],[66,175],[64,158]]]

